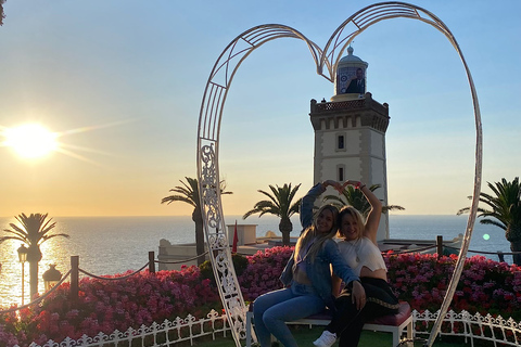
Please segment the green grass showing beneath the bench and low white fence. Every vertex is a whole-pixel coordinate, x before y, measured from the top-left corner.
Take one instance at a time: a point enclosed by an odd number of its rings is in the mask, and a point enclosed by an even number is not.
[[[295,339],[298,344],[298,346],[305,346],[305,347],[314,347],[313,342],[320,336],[322,333],[322,327],[313,327],[308,329],[307,325],[298,325],[298,326],[292,326],[291,327],[293,332],[293,336],[295,336]],[[427,338],[427,335],[418,336],[418,337],[424,337]],[[392,334],[391,333],[381,333],[381,332],[370,332],[370,331],[364,331],[361,333],[361,338],[360,343],[358,344],[358,347],[387,347],[392,346]],[[194,346],[204,346],[204,347],[232,347],[234,346],[236,343],[233,342],[233,337],[231,337],[231,333],[227,333],[227,337],[219,337],[215,340],[212,339],[195,339],[194,340]],[[245,345],[245,342],[243,342],[243,346]],[[404,347],[419,347],[422,346],[423,342],[416,342],[415,344],[409,343],[404,345]],[[189,345],[187,345],[189,346]],[[333,347],[338,347],[339,344],[334,344]],[[442,342],[442,340],[436,340],[434,342],[434,347],[461,347],[465,346],[465,343],[461,342]],[[470,345],[468,345],[470,346]],[[283,347],[280,345],[280,347]]]

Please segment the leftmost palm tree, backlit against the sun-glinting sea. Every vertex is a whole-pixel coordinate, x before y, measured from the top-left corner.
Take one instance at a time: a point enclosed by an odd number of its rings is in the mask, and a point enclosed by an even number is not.
[[[46,220],[47,216],[48,214],[30,214],[28,217],[25,214],[18,215],[15,218],[22,228],[14,223],[10,223],[9,226],[12,229],[4,229],[3,231],[12,235],[0,237],[0,243],[5,240],[17,240],[27,245],[31,298],[38,293],[38,262],[41,260],[40,245],[52,237],[69,237],[68,234],[64,233],[49,234],[49,232],[56,226],[56,222],[51,222],[52,218]]]

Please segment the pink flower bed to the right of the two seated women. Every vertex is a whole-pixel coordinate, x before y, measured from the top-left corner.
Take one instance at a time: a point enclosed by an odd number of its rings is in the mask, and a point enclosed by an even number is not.
[[[389,254],[389,280],[398,297],[418,311],[437,311],[454,272],[457,256]],[[450,307],[455,311],[521,319],[521,267],[483,256],[466,259]]]

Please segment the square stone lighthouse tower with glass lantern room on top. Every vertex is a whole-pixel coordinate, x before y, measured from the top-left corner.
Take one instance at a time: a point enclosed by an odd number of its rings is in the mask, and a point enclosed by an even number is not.
[[[314,182],[328,179],[359,180],[380,184],[374,194],[387,204],[385,131],[389,105],[367,92],[368,64],[353,55],[353,48],[336,67],[334,95],[330,102],[312,100],[315,129]],[[389,239],[389,215],[380,220],[377,240]]]

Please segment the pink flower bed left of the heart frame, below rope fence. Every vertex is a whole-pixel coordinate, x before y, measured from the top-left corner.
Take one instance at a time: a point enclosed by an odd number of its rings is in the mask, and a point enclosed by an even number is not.
[[[74,306],[69,283],[64,283],[41,307],[21,310],[20,322],[11,317],[4,321],[5,317],[0,316],[0,347],[27,346],[31,342],[42,345],[49,339],[77,339],[100,332],[111,334],[116,329],[138,329],[188,313],[201,318],[212,308],[221,307],[218,292],[209,282],[201,280],[198,267],[155,274],[143,271],[118,281],[85,278]]]

